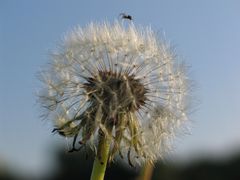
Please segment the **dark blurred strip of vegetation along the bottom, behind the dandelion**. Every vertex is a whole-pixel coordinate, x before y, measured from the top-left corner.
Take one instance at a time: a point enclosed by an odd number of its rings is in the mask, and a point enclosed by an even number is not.
[[[84,152],[67,153],[58,148],[52,154],[55,161],[54,169],[38,176],[19,174],[11,169],[1,169],[0,179],[9,180],[59,180],[59,179],[90,179],[93,156]],[[188,163],[157,162],[154,165],[152,180],[239,180],[240,154],[225,160],[198,158]],[[107,167],[106,180],[137,180],[140,167],[129,167],[126,162],[118,160]]]

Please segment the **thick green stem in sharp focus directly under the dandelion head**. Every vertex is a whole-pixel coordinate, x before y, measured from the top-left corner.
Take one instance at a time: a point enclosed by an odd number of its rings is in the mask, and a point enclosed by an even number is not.
[[[110,143],[106,137],[101,137],[98,144],[98,152],[95,157],[91,180],[103,180],[109,155]]]

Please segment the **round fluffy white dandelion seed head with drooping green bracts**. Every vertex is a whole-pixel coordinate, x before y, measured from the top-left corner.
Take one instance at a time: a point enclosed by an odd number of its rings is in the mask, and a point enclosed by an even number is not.
[[[44,116],[73,139],[70,151],[90,147],[103,175],[116,155],[131,166],[154,162],[187,120],[187,77],[176,59],[150,27],[77,27],[42,71]]]

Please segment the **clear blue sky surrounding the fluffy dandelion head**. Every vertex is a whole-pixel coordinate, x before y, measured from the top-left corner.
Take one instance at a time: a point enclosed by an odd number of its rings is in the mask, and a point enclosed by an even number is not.
[[[237,0],[1,0],[0,166],[6,161],[36,173],[48,168],[60,138],[39,118],[36,74],[65,32],[113,21],[121,12],[165,32],[191,65],[200,105],[191,117],[192,134],[177,141],[175,154],[187,159],[240,150],[239,9]]]

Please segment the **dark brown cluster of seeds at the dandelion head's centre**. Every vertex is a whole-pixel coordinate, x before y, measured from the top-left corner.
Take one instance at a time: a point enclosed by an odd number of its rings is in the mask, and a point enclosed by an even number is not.
[[[134,74],[98,71],[87,78],[84,89],[91,103],[101,104],[107,111],[134,112],[147,100],[147,89]]]

